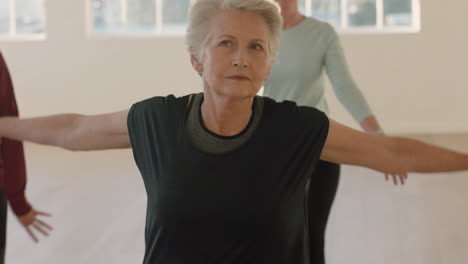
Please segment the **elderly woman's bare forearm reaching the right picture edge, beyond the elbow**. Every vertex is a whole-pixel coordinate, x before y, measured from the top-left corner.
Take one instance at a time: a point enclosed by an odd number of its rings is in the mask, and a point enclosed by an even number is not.
[[[468,155],[421,141],[394,137],[393,159],[409,172],[448,172],[468,169]]]

